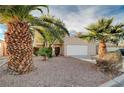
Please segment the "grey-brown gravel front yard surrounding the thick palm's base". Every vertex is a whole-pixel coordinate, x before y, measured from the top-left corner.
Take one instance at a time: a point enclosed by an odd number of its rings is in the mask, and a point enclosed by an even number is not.
[[[96,87],[109,77],[92,63],[72,57],[54,57],[44,62],[34,57],[35,69],[24,75],[10,75],[0,68],[0,87]]]

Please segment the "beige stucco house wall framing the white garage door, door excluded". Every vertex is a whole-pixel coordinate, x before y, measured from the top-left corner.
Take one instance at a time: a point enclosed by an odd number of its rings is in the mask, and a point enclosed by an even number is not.
[[[37,42],[35,42],[34,45],[37,47],[42,46],[41,43],[37,43]],[[82,39],[76,38],[76,37],[65,37],[63,44],[55,42],[55,44],[52,46],[53,51],[54,51],[55,47],[60,47],[60,55],[67,56],[67,46],[68,45],[88,46],[88,56],[96,55],[96,44],[95,43],[87,42],[86,40],[82,40]],[[84,52],[83,50],[81,50],[81,51]]]

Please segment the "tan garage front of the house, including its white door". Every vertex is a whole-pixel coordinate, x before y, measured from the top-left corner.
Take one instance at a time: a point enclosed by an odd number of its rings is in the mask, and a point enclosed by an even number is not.
[[[96,55],[96,44],[76,37],[64,38],[65,56],[92,56]]]

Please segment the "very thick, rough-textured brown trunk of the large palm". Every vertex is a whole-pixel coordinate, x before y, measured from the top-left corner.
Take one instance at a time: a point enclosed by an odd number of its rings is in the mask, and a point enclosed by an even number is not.
[[[5,41],[9,55],[8,70],[12,74],[24,74],[32,70],[32,38],[27,22],[8,23]]]

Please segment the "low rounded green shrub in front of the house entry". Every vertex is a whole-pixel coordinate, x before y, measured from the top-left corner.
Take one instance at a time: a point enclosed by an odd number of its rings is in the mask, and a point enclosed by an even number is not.
[[[52,48],[40,48],[37,54],[40,56],[47,56],[50,58],[52,57]]]

